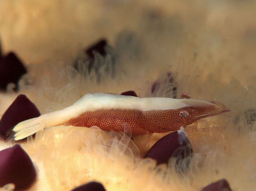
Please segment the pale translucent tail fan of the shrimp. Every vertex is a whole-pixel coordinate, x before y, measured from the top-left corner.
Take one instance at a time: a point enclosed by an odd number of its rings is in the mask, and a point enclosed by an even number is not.
[[[24,122],[20,122],[13,128],[13,131],[15,132],[14,139],[20,140],[26,138],[33,135],[37,131],[43,130],[44,128],[45,125],[42,123],[40,117],[35,117]]]

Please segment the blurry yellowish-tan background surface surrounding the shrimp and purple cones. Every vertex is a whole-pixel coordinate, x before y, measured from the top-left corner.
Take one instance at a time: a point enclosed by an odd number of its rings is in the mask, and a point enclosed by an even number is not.
[[[254,1],[0,1],[3,53],[14,51],[26,63],[18,94],[40,113],[65,108],[88,92],[127,90],[177,98],[185,91],[231,110],[185,129],[193,156],[184,174],[175,171],[175,159],[157,167],[141,159],[164,134],[131,139],[97,127],[38,132],[20,143],[38,173],[30,190],[71,190],[98,181],[106,190],[193,191],[223,178],[233,190],[252,190],[255,11]],[[89,74],[83,61],[74,69],[78,56],[102,38],[111,49],[97,55],[97,71]],[[114,76],[108,72],[113,61]],[[0,93],[0,115],[16,97],[12,89]],[[1,140],[0,150],[12,145]]]

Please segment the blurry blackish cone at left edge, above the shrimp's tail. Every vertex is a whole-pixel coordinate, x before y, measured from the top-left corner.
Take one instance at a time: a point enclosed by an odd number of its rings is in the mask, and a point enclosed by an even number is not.
[[[0,89],[6,90],[9,83],[14,83],[16,85],[14,90],[17,91],[18,80],[26,73],[27,69],[14,53],[11,52],[2,57],[0,59]]]

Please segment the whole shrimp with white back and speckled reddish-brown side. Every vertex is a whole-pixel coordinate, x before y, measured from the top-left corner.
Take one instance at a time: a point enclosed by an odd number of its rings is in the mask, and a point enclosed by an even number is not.
[[[58,125],[123,131],[131,126],[133,135],[176,131],[200,118],[223,112],[220,104],[193,99],[137,98],[111,93],[89,93],[63,110],[43,114],[17,124],[15,140],[46,127]]]

